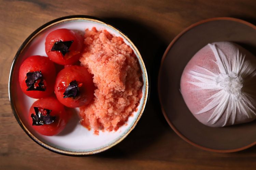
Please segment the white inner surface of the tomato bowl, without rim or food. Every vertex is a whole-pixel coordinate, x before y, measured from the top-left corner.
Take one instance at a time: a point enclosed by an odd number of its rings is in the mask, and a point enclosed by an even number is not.
[[[28,126],[27,121],[27,115],[29,114],[29,108],[31,107],[32,103],[36,101],[37,99],[30,98],[26,96],[20,89],[19,82],[18,82],[18,70],[20,64],[29,56],[32,55],[41,55],[41,56],[47,56],[45,53],[45,38],[48,35],[49,32],[60,29],[60,28],[67,28],[71,30],[77,30],[77,31],[84,31],[86,28],[91,29],[93,27],[96,27],[97,30],[106,29],[111,34],[120,36],[124,39],[125,43],[128,44],[136,54],[139,64],[142,69],[142,75],[143,75],[143,87],[142,87],[142,98],[140,100],[140,104],[138,106],[138,111],[134,112],[132,116],[129,117],[128,122],[126,125],[120,127],[116,132],[99,132],[99,135],[94,134],[94,130],[91,129],[90,131],[80,125],[79,118],[73,117],[70,122],[67,124],[66,128],[56,136],[43,136],[35,132],[30,126]],[[20,120],[23,122],[23,124],[28,128],[28,130],[39,140],[42,142],[53,146],[57,149],[61,149],[64,151],[71,151],[71,152],[92,152],[96,151],[102,148],[105,148],[113,143],[115,143],[117,140],[122,138],[128,131],[131,129],[133,124],[136,122],[137,118],[140,116],[140,112],[144,110],[144,101],[146,101],[147,98],[147,91],[146,91],[146,83],[147,82],[147,75],[146,71],[143,69],[142,61],[139,57],[139,54],[134,50],[134,47],[132,44],[130,44],[124,36],[122,36],[118,31],[111,28],[110,26],[99,23],[92,20],[84,20],[84,19],[78,19],[78,20],[69,20],[65,22],[61,22],[59,24],[56,24],[52,27],[47,28],[43,32],[41,32],[38,36],[36,36],[23,50],[23,52],[20,54],[20,56],[17,59],[17,62],[15,64],[15,68],[13,71],[13,81],[11,82],[11,90],[13,94],[14,99],[14,105],[17,110],[17,114],[20,118]],[[145,100],[144,100],[145,99]]]

